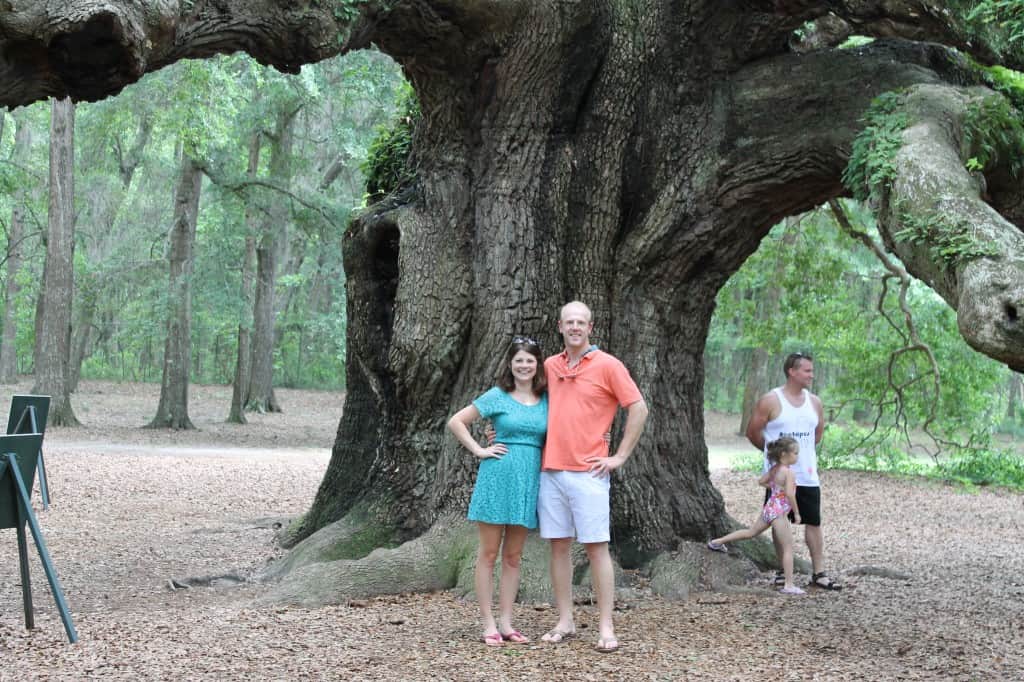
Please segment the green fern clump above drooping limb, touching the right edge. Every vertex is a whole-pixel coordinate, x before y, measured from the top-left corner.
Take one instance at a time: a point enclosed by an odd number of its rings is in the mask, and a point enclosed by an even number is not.
[[[970,102],[964,136],[976,167],[988,170],[1002,161],[1014,177],[1020,176],[1024,169],[1024,122],[1006,97],[992,95]]]

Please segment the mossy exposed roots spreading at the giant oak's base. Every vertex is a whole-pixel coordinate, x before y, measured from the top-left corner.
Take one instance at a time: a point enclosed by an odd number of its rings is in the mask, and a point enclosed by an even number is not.
[[[313,534],[283,560],[271,564],[260,580],[280,580],[260,599],[262,603],[304,606],[342,603],[382,594],[453,590],[473,597],[477,536],[461,517],[439,519],[427,532],[397,547],[366,550],[362,542],[378,538],[379,526],[365,513],[352,513]],[[359,554],[358,558],[339,558]],[[520,603],[551,602],[548,543],[529,535],[520,563]],[[495,591],[501,572],[495,569]],[[590,566],[582,545],[573,547],[578,600],[593,598]],[[649,564],[654,594],[685,599],[694,592],[742,591],[758,569],[777,567],[774,549],[765,539],[737,543],[729,556],[709,552],[701,543],[687,542],[675,552],[657,555]],[[798,560],[798,571],[809,571]],[[186,581],[185,583],[190,583]],[[627,576],[615,563],[615,585],[628,587]]]

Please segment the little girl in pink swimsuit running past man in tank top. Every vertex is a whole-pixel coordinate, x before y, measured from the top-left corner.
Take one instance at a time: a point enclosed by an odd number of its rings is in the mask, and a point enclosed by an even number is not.
[[[768,443],[768,461],[772,467],[758,479],[758,483],[771,488],[771,495],[761,517],[749,528],[733,530],[727,536],[716,538],[708,543],[708,549],[714,552],[727,552],[726,545],[737,540],[756,538],[770,526],[775,531],[779,549],[782,552],[782,572],[785,585],[779,592],[782,594],[804,594],[804,591],[793,584],[793,530],[790,527],[788,514],[792,511],[794,521],[800,523],[800,509],[797,507],[797,482],[791,464],[796,464],[800,455],[800,445],[793,438],[782,436]]]

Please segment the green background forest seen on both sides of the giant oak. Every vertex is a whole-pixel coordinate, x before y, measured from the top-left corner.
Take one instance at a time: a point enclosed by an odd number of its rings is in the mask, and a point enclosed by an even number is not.
[[[234,55],[179,62],[79,104],[70,390],[81,378],[161,381],[188,181],[188,380],[238,383],[248,363],[271,387],[343,388],[342,235],[354,210],[412,175],[409,92],[377,52],[297,77]],[[0,118],[4,382],[39,361],[50,116],[40,102]],[[878,242],[852,200],[777,225],[718,298],[707,408],[735,414],[741,432],[740,415],[781,381],[782,357],[810,352],[837,424],[830,466],[938,463],[946,476],[1019,484],[1018,457],[999,446],[1024,433],[1020,375],[969,348],[952,310],[880,260]],[[242,406],[278,409],[272,388],[243,396],[237,420]]]

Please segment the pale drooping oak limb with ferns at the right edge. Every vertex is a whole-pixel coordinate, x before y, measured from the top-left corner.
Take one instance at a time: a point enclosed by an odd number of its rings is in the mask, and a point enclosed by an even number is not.
[[[968,104],[998,96],[938,85],[907,92],[910,124],[891,162],[891,186],[879,195],[879,226],[907,270],[956,310],[967,342],[1021,371],[1024,233],[983,200],[982,177],[965,166]]]

